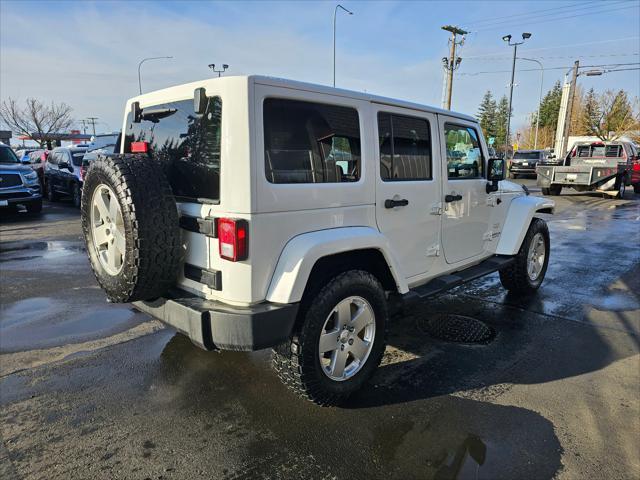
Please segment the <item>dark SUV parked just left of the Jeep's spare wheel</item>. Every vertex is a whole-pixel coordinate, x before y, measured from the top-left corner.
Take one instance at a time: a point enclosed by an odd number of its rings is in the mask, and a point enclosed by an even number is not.
[[[49,154],[44,166],[47,198],[55,202],[60,195],[69,195],[74,206],[80,208],[82,198],[82,157],[84,147],[58,147]]]

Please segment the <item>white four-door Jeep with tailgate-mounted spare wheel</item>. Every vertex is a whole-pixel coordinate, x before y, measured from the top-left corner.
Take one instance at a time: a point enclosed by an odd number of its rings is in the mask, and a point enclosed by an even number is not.
[[[273,347],[334,404],[385,349],[390,305],[495,271],[541,284],[554,203],[504,181],[466,115],[259,76],[127,102],[82,225],[98,282],[207,350]]]

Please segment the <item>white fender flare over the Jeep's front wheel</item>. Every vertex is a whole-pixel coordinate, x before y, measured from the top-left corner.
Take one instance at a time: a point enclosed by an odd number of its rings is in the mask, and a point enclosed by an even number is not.
[[[516,255],[536,213],[553,213],[556,203],[544,197],[522,196],[514,198],[507,210],[502,234],[496,247],[498,255]]]

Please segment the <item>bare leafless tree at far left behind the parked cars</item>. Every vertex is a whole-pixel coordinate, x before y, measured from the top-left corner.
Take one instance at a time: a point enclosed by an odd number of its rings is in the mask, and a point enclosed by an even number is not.
[[[72,108],[65,103],[50,105],[36,98],[27,98],[24,107],[9,98],[0,104],[0,118],[18,135],[33,136],[41,147],[51,146],[52,134],[63,132],[73,125]]]

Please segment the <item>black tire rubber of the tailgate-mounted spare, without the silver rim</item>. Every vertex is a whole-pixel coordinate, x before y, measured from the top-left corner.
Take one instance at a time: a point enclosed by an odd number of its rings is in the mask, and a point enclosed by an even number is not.
[[[117,197],[125,230],[122,269],[109,274],[92,238],[93,195],[107,185]],[[91,267],[112,302],[152,300],[175,284],[182,259],[178,209],[159,165],[146,155],[100,155],[84,181],[82,230]]]

